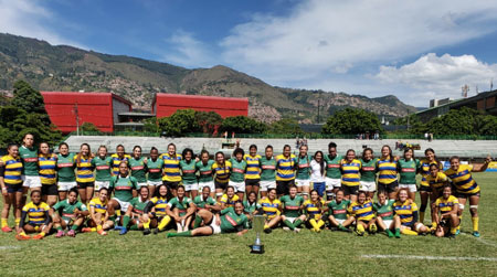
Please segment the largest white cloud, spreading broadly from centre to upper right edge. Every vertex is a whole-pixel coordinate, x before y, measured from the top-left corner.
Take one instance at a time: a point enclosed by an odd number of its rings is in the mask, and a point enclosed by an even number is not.
[[[488,34],[497,30],[496,11],[494,0],[309,0],[289,15],[254,15],[220,45],[237,70],[276,85],[314,86]]]

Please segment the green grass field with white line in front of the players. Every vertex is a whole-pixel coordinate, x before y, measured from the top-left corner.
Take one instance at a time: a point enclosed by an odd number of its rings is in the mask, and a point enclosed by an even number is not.
[[[276,230],[262,234],[263,255],[250,254],[255,233],[210,237],[166,238],[165,233],[144,236],[130,232],[106,237],[95,233],[76,238],[18,242],[0,234],[0,275],[112,276],[167,275],[382,275],[382,276],[495,276],[497,275],[496,173],[474,175],[482,185],[479,204],[482,237],[470,235],[469,212],[456,239],[434,236],[388,238],[382,234],[358,237],[342,232],[299,234]],[[427,220],[426,220],[427,223]],[[401,255],[402,257],[364,257]],[[432,256],[413,259],[406,255]],[[444,260],[440,257],[472,257]],[[482,259],[482,257],[484,259]],[[490,258],[490,259],[486,259]]]

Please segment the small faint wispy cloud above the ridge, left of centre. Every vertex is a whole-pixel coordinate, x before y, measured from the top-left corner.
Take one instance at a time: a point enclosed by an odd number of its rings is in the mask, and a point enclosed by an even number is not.
[[[165,62],[187,67],[213,65],[208,46],[197,40],[192,33],[178,30],[166,40],[166,43],[169,47],[168,52],[163,54]],[[171,49],[172,52],[170,52]]]

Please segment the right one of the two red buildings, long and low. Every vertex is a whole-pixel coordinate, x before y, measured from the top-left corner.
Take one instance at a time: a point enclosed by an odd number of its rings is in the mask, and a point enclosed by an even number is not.
[[[152,102],[152,114],[157,118],[167,117],[178,109],[194,109],[200,111],[215,111],[221,117],[248,116],[248,99],[216,97],[203,95],[156,94]]]

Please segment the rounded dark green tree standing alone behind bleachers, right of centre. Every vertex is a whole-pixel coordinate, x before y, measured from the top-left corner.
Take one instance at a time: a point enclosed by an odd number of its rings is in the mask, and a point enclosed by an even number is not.
[[[328,117],[322,134],[356,135],[364,132],[383,131],[377,115],[363,109],[346,108]]]

